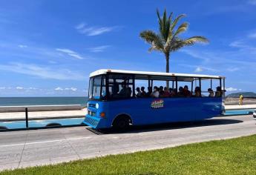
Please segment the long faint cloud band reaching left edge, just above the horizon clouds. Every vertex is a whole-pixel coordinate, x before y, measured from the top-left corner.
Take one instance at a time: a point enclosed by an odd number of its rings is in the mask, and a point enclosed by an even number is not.
[[[46,67],[45,65],[28,65],[19,62],[9,65],[0,65],[0,70],[6,70],[14,73],[22,73],[30,76],[36,76],[42,79],[59,80],[83,80],[85,77],[68,69],[59,69],[59,67]]]

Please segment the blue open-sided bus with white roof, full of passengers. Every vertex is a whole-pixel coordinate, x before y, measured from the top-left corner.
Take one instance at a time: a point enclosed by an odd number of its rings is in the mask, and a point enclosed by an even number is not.
[[[96,70],[90,74],[84,123],[94,129],[124,129],[210,119],[223,113],[224,96],[224,76]]]

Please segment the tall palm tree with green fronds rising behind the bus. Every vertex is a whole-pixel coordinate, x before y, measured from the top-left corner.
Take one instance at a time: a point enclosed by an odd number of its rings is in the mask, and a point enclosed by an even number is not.
[[[149,51],[157,50],[165,54],[166,61],[166,73],[169,72],[169,59],[170,53],[179,50],[181,47],[190,46],[196,42],[209,42],[203,36],[193,36],[188,39],[182,39],[179,37],[180,33],[185,32],[188,29],[188,22],[183,22],[179,27],[176,27],[180,19],[185,17],[185,14],[177,16],[172,20],[173,13],[167,17],[166,10],[163,13],[163,17],[160,17],[159,10],[157,10],[157,17],[159,22],[159,32],[155,33],[153,30],[143,30],[140,33],[140,37],[151,44]],[[169,87],[168,81],[166,86]]]

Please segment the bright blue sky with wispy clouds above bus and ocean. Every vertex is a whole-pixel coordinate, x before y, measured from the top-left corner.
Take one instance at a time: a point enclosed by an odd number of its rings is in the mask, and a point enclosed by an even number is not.
[[[158,30],[157,8],[205,36],[171,53],[170,71],[226,76],[226,90],[256,92],[256,0],[0,0],[0,96],[87,96],[98,69],[165,71],[142,30]]]

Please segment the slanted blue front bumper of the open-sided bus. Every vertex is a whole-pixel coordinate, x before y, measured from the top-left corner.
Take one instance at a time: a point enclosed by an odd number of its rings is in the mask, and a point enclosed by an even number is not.
[[[106,126],[105,119],[90,115],[85,116],[85,120],[83,123],[94,129],[105,128],[104,126]]]

